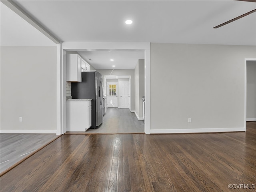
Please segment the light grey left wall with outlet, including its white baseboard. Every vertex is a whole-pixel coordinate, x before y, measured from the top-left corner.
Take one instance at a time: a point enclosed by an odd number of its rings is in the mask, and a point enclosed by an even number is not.
[[[56,133],[56,63],[56,46],[1,47],[1,133]]]

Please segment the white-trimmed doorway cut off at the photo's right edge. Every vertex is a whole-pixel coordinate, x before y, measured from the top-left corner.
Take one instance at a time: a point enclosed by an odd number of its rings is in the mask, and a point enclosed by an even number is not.
[[[245,127],[256,130],[256,59],[246,59]]]

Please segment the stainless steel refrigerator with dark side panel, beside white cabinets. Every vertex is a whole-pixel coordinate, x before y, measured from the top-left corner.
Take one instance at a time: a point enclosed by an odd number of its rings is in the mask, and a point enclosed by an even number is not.
[[[72,99],[92,99],[92,126],[103,122],[102,74],[97,71],[82,72],[82,82],[71,83]]]

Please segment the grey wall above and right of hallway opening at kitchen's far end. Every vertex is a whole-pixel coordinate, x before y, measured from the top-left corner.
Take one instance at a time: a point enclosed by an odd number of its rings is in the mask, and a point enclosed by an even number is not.
[[[110,73],[112,72],[112,69],[97,69],[97,71],[104,75],[110,75]],[[111,75],[116,75],[116,76],[131,76],[131,111],[135,110],[135,106],[134,106],[134,70],[127,70],[127,69],[115,69]]]

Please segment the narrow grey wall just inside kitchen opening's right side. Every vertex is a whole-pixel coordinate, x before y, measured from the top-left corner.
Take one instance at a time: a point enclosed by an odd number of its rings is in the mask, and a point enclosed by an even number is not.
[[[135,78],[135,113],[139,120],[143,119],[143,110],[142,110],[142,96],[144,96],[144,59],[139,59],[136,67],[134,69],[134,78]]]

